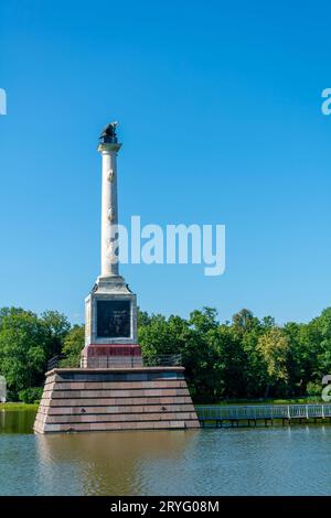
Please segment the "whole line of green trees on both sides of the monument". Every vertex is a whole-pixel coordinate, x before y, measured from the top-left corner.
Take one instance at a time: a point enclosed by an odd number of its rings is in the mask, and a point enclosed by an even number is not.
[[[145,357],[181,354],[195,402],[319,396],[331,374],[331,307],[281,326],[248,310],[225,323],[212,307],[188,319],[139,311],[138,336]],[[63,354],[62,366],[76,367],[83,347],[84,325],[57,311],[0,310],[0,375],[11,400],[38,400],[49,359]]]

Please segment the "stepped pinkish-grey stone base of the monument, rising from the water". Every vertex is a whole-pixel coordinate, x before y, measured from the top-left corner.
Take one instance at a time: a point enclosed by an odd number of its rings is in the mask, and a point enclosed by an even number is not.
[[[34,431],[200,428],[183,367],[53,369]]]

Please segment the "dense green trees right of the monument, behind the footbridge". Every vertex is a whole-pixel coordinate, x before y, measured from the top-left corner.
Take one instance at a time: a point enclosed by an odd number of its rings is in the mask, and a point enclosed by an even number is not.
[[[245,309],[221,324],[211,307],[189,320],[140,313],[139,324],[145,356],[182,355],[196,402],[317,395],[331,373],[331,309],[308,324],[282,327]]]

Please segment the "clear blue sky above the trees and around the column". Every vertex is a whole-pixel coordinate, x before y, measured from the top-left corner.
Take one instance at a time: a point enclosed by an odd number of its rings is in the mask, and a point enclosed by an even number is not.
[[[225,224],[226,272],[125,266],[141,309],[331,305],[330,2],[2,0],[0,305],[84,319],[99,273],[100,129],[120,218]]]

